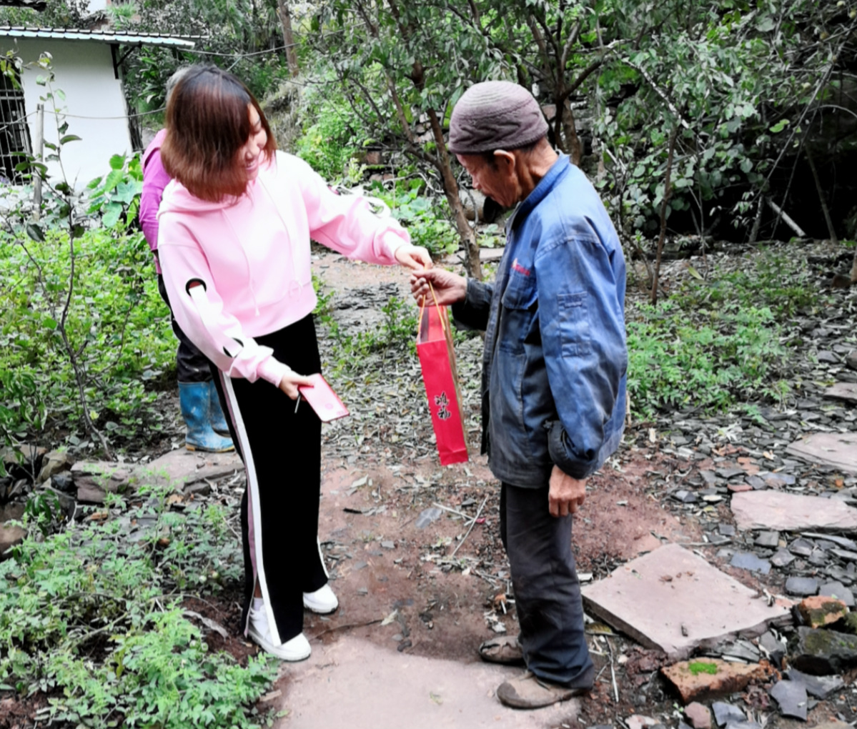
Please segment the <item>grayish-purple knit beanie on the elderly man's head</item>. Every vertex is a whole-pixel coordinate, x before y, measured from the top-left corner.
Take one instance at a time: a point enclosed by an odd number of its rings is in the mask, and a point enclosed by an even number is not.
[[[480,154],[518,149],[548,134],[548,122],[533,95],[510,81],[471,86],[452,110],[449,150]]]

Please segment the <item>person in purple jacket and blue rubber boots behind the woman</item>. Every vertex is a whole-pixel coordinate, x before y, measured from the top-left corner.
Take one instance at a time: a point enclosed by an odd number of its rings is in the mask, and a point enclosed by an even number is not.
[[[179,69],[167,81],[166,95],[170,98],[173,87],[182,78],[187,69]],[[161,129],[151,144],[143,153],[143,192],[140,199],[140,224],[143,235],[152,249],[155,259],[155,270],[158,272],[158,290],[167,306],[170,299],[164,285],[164,275],[161,272],[158,259],[158,209],[164,188],[171,181],[161,163],[160,148],[166,137],[166,129]],[[178,370],[178,402],[182,409],[182,417],[188,432],[184,445],[189,451],[211,451],[221,453],[232,451],[235,446],[228,437],[229,426],[220,406],[217,389],[212,379],[212,371],[208,359],[190,341],[178,326],[176,317],[172,315],[172,331],[178,338],[176,365]],[[225,433],[225,434],[221,434]]]

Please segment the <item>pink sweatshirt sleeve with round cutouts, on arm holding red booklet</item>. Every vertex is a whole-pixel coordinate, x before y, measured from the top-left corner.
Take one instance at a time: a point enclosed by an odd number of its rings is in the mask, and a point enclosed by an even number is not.
[[[164,283],[182,331],[221,372],[250,382],[261,377],[278,386],[290,368],[274,358],[271,348],[245,335],[241,322],[224,311],[205,254],[189,232],[168,213],[161,216],[160,235]],[[196,282],[200,285],[189,285]]]

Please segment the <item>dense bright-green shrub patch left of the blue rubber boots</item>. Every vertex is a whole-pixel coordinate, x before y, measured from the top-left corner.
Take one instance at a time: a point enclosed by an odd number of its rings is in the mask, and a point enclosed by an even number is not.
[[[72,432],[81,418],[79,387],[100,427],[133,435],[147,415],[147,427],[159,429],[156,394],[144,383],[173,367],[175,341],[142,234],[84,231],[74,258],[68,230],[49,228],[40,237],[0,233],[0,371],[32,380],[46,420],[63,421]],[[69,346],[59,326],[63,311]],[[10,392],[0,391],[0,414],[14,409]],[[23,431],[39,430],[32,418],[20,423]]]

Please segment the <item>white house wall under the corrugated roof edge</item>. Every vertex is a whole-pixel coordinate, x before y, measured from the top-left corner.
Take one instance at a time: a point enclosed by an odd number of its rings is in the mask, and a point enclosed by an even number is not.
[[[11,39],[4,39],[11,41]],[[18,55],[24,62],[22,74],[24,104],[26,105],[30,138],[36,140],[36,105],[47,87],[39,86],[36,79],[45,72],[33,68],[43,51],[53,57],[53,89],[61,89],[65,99],[57,99],[57,106],[68,116],[66,134],[76,134],[80,141],[71,141],[62,149],[63,168],[69,183],[82,188],[94,177],[110,171],[110,158],[114,154],[131,152],[127,106],[122,85],[113,72],[111,46],[93,41],[54,39],[15,39]],[[4,44],[5,45],[5,44]],[[45,140],[57,144],[57,120],[50,101],[45,102]],[[51,150],[45,149],[45,156]],[[60,177],[59,164],[48,162],[48,174]]]

